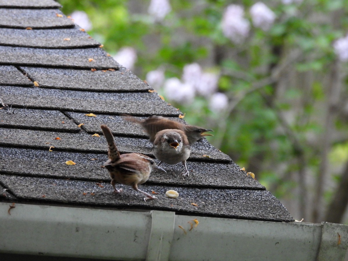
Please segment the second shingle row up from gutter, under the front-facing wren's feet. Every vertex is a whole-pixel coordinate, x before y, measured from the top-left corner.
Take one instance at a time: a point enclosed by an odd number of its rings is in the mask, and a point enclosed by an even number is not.
[[[58,146],[56,147],[58,148]],[[52,152],[49,152],[48,147],[47,150],[2,148],[0,151],[1,172],[110,182],[108,171],[101,167],[108,158],[106,148],[102,154],[57,151],[56,148],[52,150]],[[74,167],[67,166],[65,164],[67,160],[74,161],[76,165]],[[35,166],[35,168],[32,166]],[[192,172],[189,177],[185,178],[180,175],[183,171],[181,164],[167,165],[163,163],[161,166],[166,169],[167,173],[152,172],[147,183],[264,190],[259,182],[239,171],[238,166],[234,163],[189,161],[187,166]]]

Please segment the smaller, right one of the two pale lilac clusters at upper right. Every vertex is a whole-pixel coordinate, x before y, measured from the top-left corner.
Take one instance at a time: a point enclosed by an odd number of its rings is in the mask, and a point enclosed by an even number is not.
[[[253,25],[263,31],[268,31],[276,19],[275,13],[262,2],[257,2],[250,8],[250,15]]]

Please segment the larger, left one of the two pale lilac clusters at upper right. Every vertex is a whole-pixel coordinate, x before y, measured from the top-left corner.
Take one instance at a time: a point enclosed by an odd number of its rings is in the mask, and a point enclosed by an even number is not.
[[[229,5],[222,17],[222,32],[231,41],[240,44],[248,36],[250,23],[244,18],[243,7]]]

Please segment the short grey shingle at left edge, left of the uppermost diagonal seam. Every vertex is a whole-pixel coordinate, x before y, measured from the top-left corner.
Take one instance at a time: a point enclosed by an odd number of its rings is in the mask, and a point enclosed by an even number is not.
[[[0,85],[33,86],[33,83],[15,66],[0,65]]]

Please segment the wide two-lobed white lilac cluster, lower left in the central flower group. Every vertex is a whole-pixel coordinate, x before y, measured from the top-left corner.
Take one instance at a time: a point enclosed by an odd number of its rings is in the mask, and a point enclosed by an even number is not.
[[[178,103],[190,103],[195,98],[195,89],[192,85],[182,83],[178,78],[170,78],[164,83],[166,98]]]

